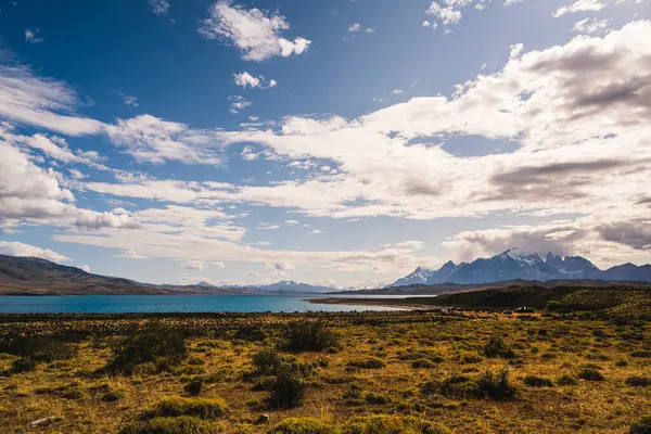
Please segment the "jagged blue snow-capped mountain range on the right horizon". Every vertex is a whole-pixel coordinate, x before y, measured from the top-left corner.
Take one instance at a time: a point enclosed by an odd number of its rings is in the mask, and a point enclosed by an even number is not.
[[[510,248],[490,258],[455,264],[451,260],[437,270],[418,267],[411,273],[385,288],[437,283],[478,284],[509,280],[604,280],[651,282],[651,265],[624,264],[600,270],[582,256],[561,257],[548,253],[542,259],[537,253]]]

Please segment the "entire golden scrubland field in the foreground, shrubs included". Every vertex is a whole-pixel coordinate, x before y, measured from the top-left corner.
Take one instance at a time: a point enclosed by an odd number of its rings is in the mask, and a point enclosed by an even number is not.
[[[650,332],[538,311],[0,316],[0,432],[649,433]]]

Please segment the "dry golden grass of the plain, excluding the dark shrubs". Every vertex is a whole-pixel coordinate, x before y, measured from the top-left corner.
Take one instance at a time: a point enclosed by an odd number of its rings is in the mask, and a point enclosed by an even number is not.
[[[400,315],[409,320],[401,321]],[[284,322],[296,320],[282,318]],[[651,387],[626,383],[633,376],[649,376],[651,358],[630,356],[651,349],[646,322],[617,326],[597,320],[477,314],[450,320],[425,312],[396,312],[385,317],[385,321],[381,316],[376,321],[360,321],[352,314],[345,318],[330,321],[331,330],[340,336],[339,353],[293,354],[296,361],[315,362],[317,368],[304,379],[307,392],[303,406],[286,410],[267,409],[267,393],[251,390],[255,382],[250,375],[254,370],[251,357],[261,343],[233,339],[237,330],[200,317],[175,320],[183,324],[186,332],[192,331],[186,339],[190,358],[162,372],[142,369],[131,376],[99,375],[97,371],[113,356],[114,343],[124,339],[122,329],[113,326],[105,328],[116,332],[87,333],[74,343],[78,347],[74,358],[41,361],[30,372],[11,373],[17,357],[0,354],[0,371],[5,371],[0,376],[0,431],[117,433],[156,401],[189,396],[183,386],[200,378],[203,380],[200,397],[224,398],[230,408],[224,418],[205,421],[215,431],[225,433],[267,432],[269,427],[254,424],[260,413],[270,416],[271,425],[286,418],[316,418],[329,425],[344,426],[346,421],[360,416],[403,414],[435,421],[455,433],[623,433],[651,408]],[[85,321],[91,320],[76,321],[77,327],[87,330]],[[146,322],[138,318],[119,321],[135,322],[138,327]],[[264,337],[256,339],[265,339],[265,344],[280,348],[283,321],[269,321],[263,326]],[[0,333],[4,331],[0,335],[30,327],[35,332],[43,330],[38,321],[5,322],[0,327]],[[73,324],[58,327],[69,330]],[[516,357],[483,357],[477,362],[480,358],[474,356],[483,356],[486,343],[496,336]],[[405,357],[407,352],[442,357],[435,366],[421,369]],[[290,355],[282,350],[281,354]],[[380,369],[349,366],[350,360],[367,357],[382,359],[386,366]],[[421,385],[430,380],[443,381],[454,374],[480,379],[485,371],[498,372],[505,367],[510,371],[511,385],[516,388],[514,399],[456,400],[421,391]],[[580,380],[578,374],[585,368],[598,369],[604,381]],[[527,375],[549,379],[553,385],[529,386],[524,381]],[[577,379],[576,384],[563,385],[565,382],[559,382],[562,375]],[[344,397],[350,384],[360,388],[360,399]],[[105,399],[108,392],[116,391],[117,399]],[[363,399],[369,394],[388,399]],[[59,420],[38,430],[27,427],[29,422],[49,416]]]

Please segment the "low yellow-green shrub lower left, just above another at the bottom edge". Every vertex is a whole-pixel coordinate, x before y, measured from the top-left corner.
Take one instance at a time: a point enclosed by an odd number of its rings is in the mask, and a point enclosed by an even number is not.
[[[228,405],[221,398],[184,398],[181,396],[168,396],[155,403],[145,410],[141,418],[176,418],[179,416],[192,416],[200,419],[217,419],[227,414]]]

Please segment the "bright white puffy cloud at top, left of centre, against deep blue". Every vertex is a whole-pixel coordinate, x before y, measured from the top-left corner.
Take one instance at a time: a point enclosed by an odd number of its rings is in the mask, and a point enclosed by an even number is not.
[[[232,1],[220,0],[210,7],[209,17],[202,22],[199,34],[206,39],[232,43],[242,52],[242,59],[260,62],[307,50],[310,40],[297,37],[292,41],[280,36],[289,28],[285,18],[277,13],[247,10],[233,5]]]

